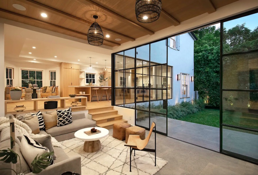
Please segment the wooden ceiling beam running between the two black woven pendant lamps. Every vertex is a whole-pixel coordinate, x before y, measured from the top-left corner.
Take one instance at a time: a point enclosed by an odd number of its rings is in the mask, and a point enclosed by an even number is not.
[[[149,29],[147,29],[147,28],[145,28],[143,26],[140,26],[139,24],[137,24],[137,23],[135,23],[135,22],[133,22],[133,21],[131,21],[131,20],[129,20],[129,19],[127,19],[127,18],[117,14],[117,13],[115,13],[114,11],[111,11],[111,10],[107,9],[106,7],[103,7],[103,6],[93,2],[91,0],[76,0],[76,1],[78,1],[80,3],[83,3],[85,5],[88,5],[88,3],[90,3],[90,4],[94,5],[94,6],[97,6],[97,7],[101,8],[103,11],[106,12],[107,15],[112,16],[113,18],[115,18],[115,19],[117,19],[117,20],[119,20],[119,21],[129,25],[129,26],[137,28],[140,31],[143,31],[143,32],[145,32],[145,33],[147,33],[149,35],[153,35],[154,34],[153,31],[151,31],[151,30],[149,30]]]

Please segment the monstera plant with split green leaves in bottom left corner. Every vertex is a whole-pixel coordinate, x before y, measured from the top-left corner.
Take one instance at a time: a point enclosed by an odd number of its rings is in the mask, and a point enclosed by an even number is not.
[[[30,168],[33,168],[32,173],[38,174],[40,173],[43,169],[46,169],[49,166],[49,161],[50,158],[48,158],[50,155],[53,155],[53,152],[46,152],[40,156],[36,156],[34,158],[34,160],[31,163]],[[4,163],[13,163],[16,164],[17,163],[17,158],[20,156],[14,152],[12,149],[4,149],[4,150],[0,150],[0,157],[4,157],[2,159],[0,159],[0,161],[3,161]],[[20,161],[20,166],[21,165],[21,161]],[[0,169],[1,170],[1,169]],[[16,175],[23,175],[24,172],[16,172],[14,169],[11,169],[12,171],[14,171],[14,173]],[[28,169],[27,169],[28,170]],[[27,171],[26,170],[26,171]]]

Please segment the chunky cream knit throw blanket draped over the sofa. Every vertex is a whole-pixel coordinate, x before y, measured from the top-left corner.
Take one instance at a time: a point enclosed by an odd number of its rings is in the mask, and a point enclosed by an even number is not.
[[[9,119],[6,117],[0,117],[0,131],[2,131],[6,127],[10,127]],[[32,134],[32,130],[29,128],[29,126],[23,123],[22,121],[17,120],[16,118],[14,118],[14,127],[18,130],[18,132],[21,135],[26,135],[32,139],[45,136],[45,134]],[[52,137],[51,140],[52,140],[52,145],[54,147],[60,147],[63,149],[63,145],[60,144],[54,137]]]

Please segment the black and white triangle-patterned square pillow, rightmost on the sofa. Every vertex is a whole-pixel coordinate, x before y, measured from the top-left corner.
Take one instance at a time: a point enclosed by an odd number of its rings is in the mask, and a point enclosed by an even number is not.
[[[71,107],[69,107],[66,110],[56,110],[56,113],[57,113],[57,126],[65,126],[73,122]]]

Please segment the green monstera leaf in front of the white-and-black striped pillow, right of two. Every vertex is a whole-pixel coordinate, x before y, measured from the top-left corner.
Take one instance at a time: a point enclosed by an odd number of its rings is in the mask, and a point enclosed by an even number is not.
[[[49,157],[50,155],[53,155],[53,154],[54,154],[54,152],[46,152],[39,157],[37,155],[31,163],[31,165],[33,167],[32,173],[38,174],[43,169],[46,169],[50,164],[49,160],[51,160],[47,157]]]

